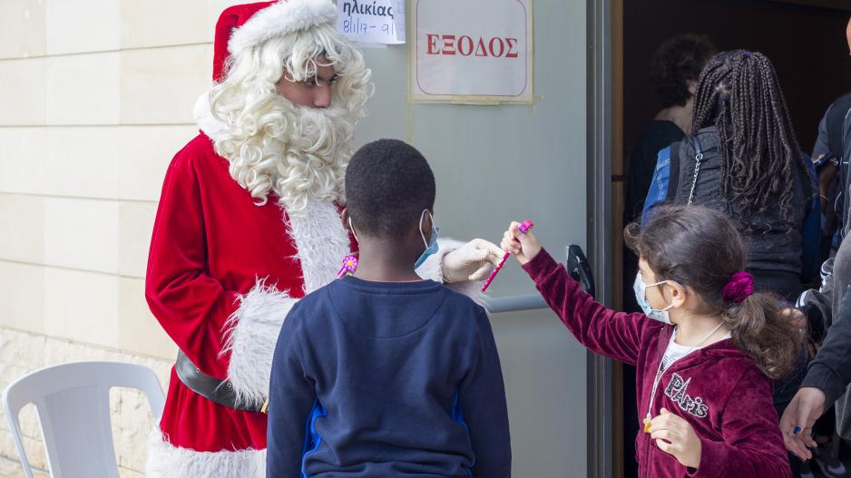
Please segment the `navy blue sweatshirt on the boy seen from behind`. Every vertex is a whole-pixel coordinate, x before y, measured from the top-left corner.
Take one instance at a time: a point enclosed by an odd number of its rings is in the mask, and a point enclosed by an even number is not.
[[[508,414],[482,307],[442,284],[336,280],[281,327],[267,476],[511,475]]]

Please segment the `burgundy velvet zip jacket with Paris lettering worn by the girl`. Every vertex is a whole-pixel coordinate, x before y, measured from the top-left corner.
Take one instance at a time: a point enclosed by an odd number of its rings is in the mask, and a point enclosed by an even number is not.
[[[643,419],[673,327],[595,302],[546,250],[523,269],[583,346],[636,366],[638,415]],[[697,469],[683,466],[662,452],[650,434],[639,431],[635,446],[639,476],[791,476],[778,415],[771,405],[771,386],[768,376],[730,339],[674,362],[660,378],[651,415],[659,415],[665,407],[689,422],[700,439],[700,464]]]

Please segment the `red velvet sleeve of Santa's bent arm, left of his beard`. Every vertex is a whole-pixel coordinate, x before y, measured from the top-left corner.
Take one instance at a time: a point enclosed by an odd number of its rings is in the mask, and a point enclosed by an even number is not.
[[[145,298],[166,333],[201,371],[228,375],[222,330],[238,294],[205,271],[204,215],[191,152],[171,161],[154,221]]]

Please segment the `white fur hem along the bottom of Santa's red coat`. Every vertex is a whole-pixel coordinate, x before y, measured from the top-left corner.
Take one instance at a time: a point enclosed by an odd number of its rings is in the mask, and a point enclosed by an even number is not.
[[[154,428],[148,437],[148,478],[265,478],[266,450],[196,452],[178,448]]]

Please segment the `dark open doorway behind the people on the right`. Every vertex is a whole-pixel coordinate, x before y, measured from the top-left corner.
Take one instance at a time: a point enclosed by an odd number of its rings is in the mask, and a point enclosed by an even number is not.
[[[797,139],[807,152],[813,149],[818,122],[827,106],[851,91],[851,57],[845,37],[851,3],[846,0],[641,0],[622,2],[621,8],[622,12],[612,12],[621,16],[613,17],[611,25],[615,42],[612,96],[621,99],[620,107],[616,105],[612,112],[614,285],[624,283],[620,234],[623,203],[618,191],[629,171],[632,146],[661,109],[648,73],[650,57],[662,42],[677,34],[706,34],[719,51],[743,48],[766,54],[777,70]],[[631,293],[629,288],[616,287],[615,303]],[[621,443],[614,446],[622,446],[625,477],[636,475],[633,440],[638,416],[634,386],[630,373],[624,373],[615,384],[615,395],[622,392],[623,419],[622,434],[615,434],[615,440]]]

